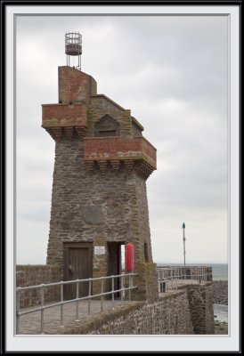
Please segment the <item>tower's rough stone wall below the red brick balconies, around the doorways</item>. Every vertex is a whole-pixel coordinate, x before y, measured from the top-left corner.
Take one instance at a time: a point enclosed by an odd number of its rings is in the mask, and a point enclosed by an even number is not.
[[[56,142],[47,263],[63,264],[63,242],[96,242],[106,254],[94,255],[94,271],[106,265],[107,242],[134,242],[135,265],[152,261],[146,183],[134,171],[108,167],[87,172],[83,142]],[[103,261],[101,262],[101,260]],[[97,268],[96,268],[97,267]]]

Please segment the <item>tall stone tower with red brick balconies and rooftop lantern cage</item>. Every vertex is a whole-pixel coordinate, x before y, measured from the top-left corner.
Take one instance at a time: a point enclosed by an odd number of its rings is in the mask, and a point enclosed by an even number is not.
[[[42,105],[42,127],[55,141],[47,264],[60,265],[64,280],[116,275],[121,245],[130,242],[137,272],[152,264],[146,180],[156,149],[131,111],[97,94],[94,78],[80,70],[80,34],[65,35],[65,53],[59,103]]]

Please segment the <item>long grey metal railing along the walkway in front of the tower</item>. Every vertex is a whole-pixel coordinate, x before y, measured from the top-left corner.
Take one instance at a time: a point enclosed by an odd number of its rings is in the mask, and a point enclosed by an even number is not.
[[[44,314],[46,309],[54,308],[56,306],[61,307],[61,327],[64,326],[63,323],[63,305],[68,304],[68,303],[77,303],[76,305],[76,321],[79,321],[79,310],[78,310],[78,304],[80,301],[88,300],[88,307],[87,307],[87,313],[88,316],[91,315],[91,299],[93,298],[101,298],[101,312],[103,312],[103,301],[104,301],[104,296],[105,295],[111,295],[111,305],[112,309],[114,309],[114,301],[115,301],[115,294],[120,292],[120,299],[121,303],[124,303],[126,299],[126,291],[128,291],[128,301],[131,301],[131,291],[137,287],[133,285],[133,277],[136,276],[136,273],[122,273],[118,274],[115,276],[108,276],[108,277],[98,277],[98,278],[90,278],[90,279],[74,279],[74,280],[68,280],[68,281],[61,281],[61,282],[55,282],[55,283],[48,283],[48,284],[41,284],[39,286],[28,286],[28,287],[17,287],[16,288],[16,334],[19,334],[20,332],[20,317],[22,315],[26,315],[32,312],[41,312],[41,330],[40,332],[44,332]],[[111,279],[111,290],[108,292],[104,292],[104,280],[106,279]],[[118,289],[115,289],[115,279],[120,279],[120,287]],[[128,287],[126,287],[126,279],[128,279]],[[101,293],[99,294],[92,294],[92,283],[94,281],[101,281]],[[88,282],[88,295],[79,297],[79,284]],[[76,298],[74,299],[69,299],[69,300],[64,300],[64,295],[63,295],[63,286],[64,285],[70,285],[70,284],[76,284]],[[47,287],[53,287],[53,286],[60,286],[61,287],[61,302],[58,303],[50,303],[45,305],[45,288]],[[25,310],[23,312],[20,312],[20,293],[21,291],[24,290],[29,290],[29,289],[39,289],[40,290],[40,303],[41,305],[37,308],[32,308],[30,310]]]

